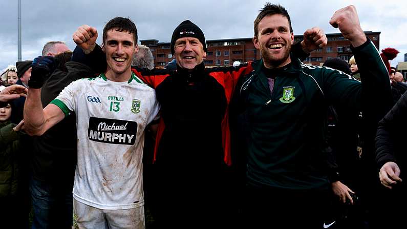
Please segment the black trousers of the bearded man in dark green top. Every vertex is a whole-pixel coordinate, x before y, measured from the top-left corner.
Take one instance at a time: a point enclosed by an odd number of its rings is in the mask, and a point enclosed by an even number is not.
[[[323,228],[327,194],[246,185],[242,228]]]

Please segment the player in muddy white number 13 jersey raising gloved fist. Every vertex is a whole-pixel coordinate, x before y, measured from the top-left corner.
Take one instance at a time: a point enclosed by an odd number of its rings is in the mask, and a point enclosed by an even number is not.
[[[144,129],[157,116],[159,105],[155,91],[131,71],[138,47],[137,29],[130,19],[116,17],[106,24],[103,51],[108,64],[105,74],[72,82],[44,110],[40,88],[52,58],[34,60],[24,110],[26,131],[41,135],[75,112],[74,226],[144,228]]]

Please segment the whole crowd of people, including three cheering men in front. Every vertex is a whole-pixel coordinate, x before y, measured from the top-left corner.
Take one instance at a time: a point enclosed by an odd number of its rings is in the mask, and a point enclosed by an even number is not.
[[[407,85],[354,6],[329,23],[349,62],[302,61],[291,18],[266,3],[262,58],[208,68],[204,32],[174,30],[174,61],[154,68],[132,20],[49,41],[0,86],[0,217],[13,228],[393,228],[401,225]],[[392,108],[393,107],[393,108]],[[151,220],[152,219],[152,220]]]

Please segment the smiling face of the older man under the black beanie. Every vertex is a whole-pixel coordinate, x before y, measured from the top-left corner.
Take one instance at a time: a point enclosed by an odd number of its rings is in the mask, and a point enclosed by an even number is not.
[[[175,58],[177,64],[183,69],[194,69],[206,57],[206,52],[198,38],[182,37],[175,41]]]

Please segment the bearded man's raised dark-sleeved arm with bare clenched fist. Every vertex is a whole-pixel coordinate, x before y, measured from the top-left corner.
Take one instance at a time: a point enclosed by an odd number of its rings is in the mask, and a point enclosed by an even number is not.
[[[369,118],[374,119],[375,125],[391,106],[389,73],[376,47],[361,29],[354,6],[336,11],[330,24],[339,28],[342,35],[350,40],[360,71],[361,85],[350,76],[334,71],[324,78],[325,92],[331,102],[355,110],[362,109],[364,116],[373,115]]]

